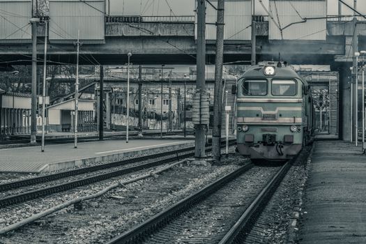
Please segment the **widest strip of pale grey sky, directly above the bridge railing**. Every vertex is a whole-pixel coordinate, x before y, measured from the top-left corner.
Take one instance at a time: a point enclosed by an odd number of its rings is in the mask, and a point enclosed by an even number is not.
[[[105,4],[109,15],[195,15],[195,0],[106,0]]]

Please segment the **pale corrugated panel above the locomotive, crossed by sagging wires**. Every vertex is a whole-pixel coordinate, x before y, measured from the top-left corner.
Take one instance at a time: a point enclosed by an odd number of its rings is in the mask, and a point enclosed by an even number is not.
[[[326,40],[326,19],[292,24],[305,17],[326,17],[326,0],[270,0],[269,12],[274,20],[268,17],[269,40]]]

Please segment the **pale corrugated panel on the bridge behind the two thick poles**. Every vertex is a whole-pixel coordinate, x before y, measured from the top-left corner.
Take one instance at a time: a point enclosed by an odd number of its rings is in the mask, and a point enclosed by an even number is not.
[[[211,1],[218,6],[218,1]],[[226,0],[224,10],[224,40],[250,40],[251,10],[250,0]],[[206,40],[216,40],[217,11],[207,4],[206,6]],[[212,24],[213,23],[213,24]],[[196,20],[197,24],[197,20]],[[197,32],[197,31],[196,31]],[[197,33],[196,33],[197,38]]]

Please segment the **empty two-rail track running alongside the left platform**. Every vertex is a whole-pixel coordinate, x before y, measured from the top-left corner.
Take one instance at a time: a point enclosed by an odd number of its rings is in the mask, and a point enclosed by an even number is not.
[[[223,144],[223,142],[222,142]],[[230,142],[230,145],[234,145],[235,144],[235,140]],[[0,192],[5,192],[5,191],[10,191],[10,190],[15,190],[17,188],[23,188],[23,187],[28,187],[31,185],[37,185],[40,183],[47,183],[50,181],[56,181],[59,180],[61,178],[67,178],[69,176],[78,176],[78,175],[82,175],[82,174],[87,174],[93,171],[100,171],[102,169],[111,169],[114,167],[119,167],[119,166],[123,166],[123,165],[130,165],[132,163],[136,163],[136,162],[144,162],[145,160],[151,160],[151,158],[162,158],[164,156],[169,156],[167,158],[164,159],[160,159],[160,160],[154,160],[153,162],[147,162],[141,165],[135,165],[132,167],[123,167],[122,169],[118,169],[118,170],[114,170],[114,171],[109,171],[103,174],[96,174],[93,176],[87,176],[84,178],[79,178],[76,179],[74,181],[66,181],[64,183],[59,183],[56,185],[52,185],[49,186],[47,188],[40,188],[40,189],[36,189],[36,190],[30,190],[30,191],[26,191],[26,192],[21,192],[15,195],[10,195],[8,197],[3,197],[0,199],[0,208],[6,207],[6,206],[11,206],[14,204],[20,204],[24,201],[29,201],[31,199],[37,199],[39,197],[45,197],[47,195],[52,195],[54,193],[58,193],[58,192],[63,192],[66,190],[71,190],[73,188],[77,188],[83,185],[89,185],[91,183],[96,183],[98,181],[104,181],[108,178],[113,178],[116,176],[121,176],[123,174],[129,174],[135,171],[139,171],[142,169],[147,169],[147,168],[151,168],[151,167],[156,167],[158,165],[162,165],[168,162],[173,162],[175,160],[180,160],[182,158],[188,158],[192,155],[194,155],[194,147],[190,147],[190,148],[183,148],[183,149],[179,149],[176,151],[168,151],[165,153],[158,153],[158,154],[154,154],[154,155],[146,155],[143,157],[139,157],[139,158],[131,158],[128,160],[123,160],[123,161],[118,161],[118,162],[111,162],[105,165],[96,165],[96,166],[92,166],[92,167],[85,167],[82,169],[75,169],[75,170],[71,170],[71,171],[64,171],[61,173],[56,173],[56,174],[49,174],[46,176],[39,176],[39,177],[35,177],[35,178],[28,178],[22,181],[14,181],[14,182],[10,182],[10,183],[6,183],[6,184],[2,184],[0,185]],[[206,148],[206,151],[210,151],[211,150],[211,146],[208,145],[208,147]],[[181,154],[180,154],[181,153]],[[183,154],[182,154],[183,153]]]

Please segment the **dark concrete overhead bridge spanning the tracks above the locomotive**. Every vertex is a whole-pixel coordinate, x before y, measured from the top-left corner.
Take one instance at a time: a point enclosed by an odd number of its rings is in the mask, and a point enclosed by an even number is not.
[[[353,37],[352,22],[326,22],[326,40],[268,40],[268,20],[257,22],[257,59],[282,60],[298,64],[329,64],[351,61],[349,44]],[[360,49],[366,49],[366,23],[359,22]],[[50,33],[52,29],[49,29]],[[44,26],[38,26],[38,60],[43,61]],[[73,41],[73,40],[72,40]],[[195,22],[128,22],[123,17],[106,17],[104,40],[82,40],[81,64],[127,63],[132,52],[133,63],[139,64],[195,64]],[[350,54],[351,53],[351,54]],[[215,41],[206,45],[207,63],[215,62]],[[226,40],[224,63],[250,61],[250,40]],[[31,43],[0,43],[1,61],[8,64],[29,64]],[[47,59],[54,63],[75,63],[76,48],[70,41],[49,40]]]

